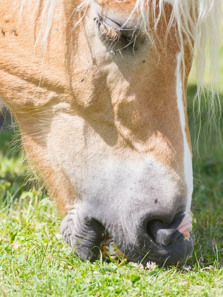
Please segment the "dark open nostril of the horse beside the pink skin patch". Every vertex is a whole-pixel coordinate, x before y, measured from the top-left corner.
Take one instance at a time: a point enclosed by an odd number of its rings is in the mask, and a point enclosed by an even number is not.
[[[167,225],[160,219],[152,219],[147,222],[148,235],[159,245],[170,245],[181,233],[177,230],[183,221],[183,216],[175,216],[171,224]]]

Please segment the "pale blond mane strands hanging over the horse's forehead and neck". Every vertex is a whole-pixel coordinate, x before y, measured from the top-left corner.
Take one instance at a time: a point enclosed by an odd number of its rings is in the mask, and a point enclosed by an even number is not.
[[[83,0],[73,13],[82,12],[82,16],[77,21],[76,27],[83,19],[88,5],[93,0]],[[118,0],[114,0],[118,1]],[[25,4],[30,4],[32,0],[21,0],[20,17]],[[56,14],[56,6],[59,0],[37,0],[36,7],[41,3],[42,9],[42,25],[39,37],[42,38],[43,49],[46,49],[51,26]],[[221,104],[218,95],[219,84],[219,45],[220,45],[220,29],[222,24],[222,0],[136,0],[133,13],[138,13],[140,24],[148,36],[156,32],[161,17],[165,14],[165,3],[172,5],[172,12],[168,22],[167,31],[173,24],[176,24],[178,42],[181,48],[182,63],[183,61],[183,45],[186,42],[191,48],[194,56],[194,63],[197,74],[197,100],[198,110],[200,110],[201,97],[205,94],[209,101],[210,116],[216,114],[217,105]],[[159,14],[157,15],[157,8]],[[153,16],[153,25],[151,26],[151,13]],[[46,25],[44,25],[46,24]],[[168,34],[168,32],[167,32]],[[39,38],[37,38],[39,39]],[[186,39],[186,41],[185,41]],[[193,42],[194,44],[193,44]],[[207,63],[210,60],[210,63]],[[208,69],[209,82],[206,84],[204,76]],[[207,92],[208,91],[208,92]],[[205,97],[205,96],[204,96]]]

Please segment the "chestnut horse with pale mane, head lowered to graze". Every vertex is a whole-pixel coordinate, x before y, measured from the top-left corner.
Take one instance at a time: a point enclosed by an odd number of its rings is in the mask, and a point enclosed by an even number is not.
[[[81,259],[98,259],[110,243],[143,265],[191,256],[187,81],[195,59],[200,101],[209,45],[213,108],[221,8],[221,0],[1,1],[0,97]]]

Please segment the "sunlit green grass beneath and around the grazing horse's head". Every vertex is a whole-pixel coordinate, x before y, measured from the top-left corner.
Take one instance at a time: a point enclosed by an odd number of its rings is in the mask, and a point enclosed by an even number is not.
[[[192,142],[194,92],[189,88]],[[188,271],[81,262],[61,239],[54,202],[25,183],[22,157],[9,144],[13,133],[0,134],[0,296],[223,296],[223,149],[215,130],[206,145],[201,137],[194,157],[194,253]]]

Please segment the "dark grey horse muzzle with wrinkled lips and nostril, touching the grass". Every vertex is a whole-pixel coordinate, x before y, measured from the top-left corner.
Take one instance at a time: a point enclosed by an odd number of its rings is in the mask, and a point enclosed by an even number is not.
[[[191,216],[184,212],[175,215],[170,224],[143,213],[137,228],[130,222],[126,226],[129,230],[119,225],[106,231],[107,226],[97,219],[73,209],[64,218],[61,233],[82,260],[94,261],[102,253],[110,260],[124,257],[145,266],[149,261],[169,266],[181,264],[192,254]]]

